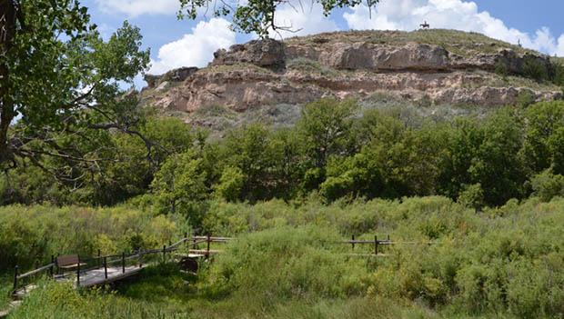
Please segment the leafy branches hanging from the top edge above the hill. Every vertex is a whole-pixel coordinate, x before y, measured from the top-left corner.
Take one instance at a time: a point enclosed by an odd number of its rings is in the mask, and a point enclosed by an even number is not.
[[[276,20],[277,9],[289,6],[296,11],[305,11],[310,5],[323,7],[323,14],[329,15],[336,8],[367,5],[371,8],[379,0],[179,0],[179,17],[196,19],[199,15],[211,13],[216,16],[229,16],[236,31],[256,33],[267,37],[279,30],[297,31],[291,25],[279,25]]]

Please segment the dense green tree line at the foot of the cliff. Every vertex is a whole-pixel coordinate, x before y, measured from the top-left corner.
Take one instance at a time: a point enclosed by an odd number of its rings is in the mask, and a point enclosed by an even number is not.
[[[247,125],[212,142],[179,120],[149,116],[140,132],[158,145],[150,160],[143,140],[100,131],[80,145],[107,158],[96,174],[76,171],[80,178],[61,183],[22,161],[0,179],[0,201],[108,205],[142,195],[137,200],[163,213],[196,214],[214,197],[255,202],[317,193],[331,202],[444,194],[479,207],[561,193],[564,102],[443,122],[359,113],[355,101],[324,99],[306,105],[294,127]]]

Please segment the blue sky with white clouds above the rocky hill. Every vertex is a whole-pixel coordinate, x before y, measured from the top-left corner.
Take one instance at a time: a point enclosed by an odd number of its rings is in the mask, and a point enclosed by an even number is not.
[[[83,0],[82,4],[105,36],[124,20],[139,26],[144,44],[151,48],[150,73],[154,74],[178,66],[205,66],[218,48],[252,38],[231,32],[222,18],[178,21],[177,0]],[[364,5],[337,10],[328,18],[320,12],[317,5],[298,12],[286,7],[277,13],[277,22],[299,29],[297,35],[307,35],[351,28],[413,30],[427,20],[431,27],[476,31],[510,43],[520,41],[549,55],[564,55],[562,0],[382,0],[371,18]]]

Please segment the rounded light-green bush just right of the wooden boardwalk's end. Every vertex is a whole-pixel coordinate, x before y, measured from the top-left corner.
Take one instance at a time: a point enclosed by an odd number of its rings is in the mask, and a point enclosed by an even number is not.
[[[331,229],[281,227],[240,236],[207,274],[214,294],[270,306],[361,294],[363,268],[343,258]]]

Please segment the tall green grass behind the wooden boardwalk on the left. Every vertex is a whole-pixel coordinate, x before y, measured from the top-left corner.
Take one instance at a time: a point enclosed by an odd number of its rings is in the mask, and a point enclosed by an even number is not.
[[[187,230],[175,216],[134,208],[0,207],[0,272],[47,264],[52,254],[93,256],[156,248]]]

